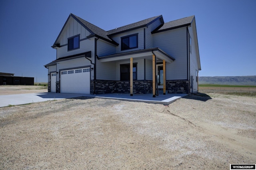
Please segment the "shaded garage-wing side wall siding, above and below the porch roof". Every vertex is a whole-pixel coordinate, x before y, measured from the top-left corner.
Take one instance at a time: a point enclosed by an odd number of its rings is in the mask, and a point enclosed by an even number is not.
[[[116,45],[110,44],[103,40],[97,40],[98,57],[112,55],[116,53]],[[116,63],[101,62],[96,60],[96,79],[97,80],[116,80]]]

